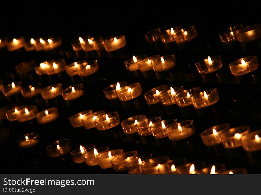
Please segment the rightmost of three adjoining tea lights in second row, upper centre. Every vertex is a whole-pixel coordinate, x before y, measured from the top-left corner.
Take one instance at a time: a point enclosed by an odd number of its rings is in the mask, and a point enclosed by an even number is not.
[[[154,58],[151,61],[151,65],[155,72],[162,72],[162,71],[169,70],[169,69],[173,68],[174,66],[176,66],[175,55],[171,54],[171,55]]]

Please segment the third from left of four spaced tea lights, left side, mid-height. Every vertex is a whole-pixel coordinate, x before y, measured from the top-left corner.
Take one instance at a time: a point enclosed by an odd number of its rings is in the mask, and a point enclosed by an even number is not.
[[[62,94],[63,86],[62,83],[57,83],[55,85],[50,85],[43,88],[41,91],[43,99],[53,99]]]

